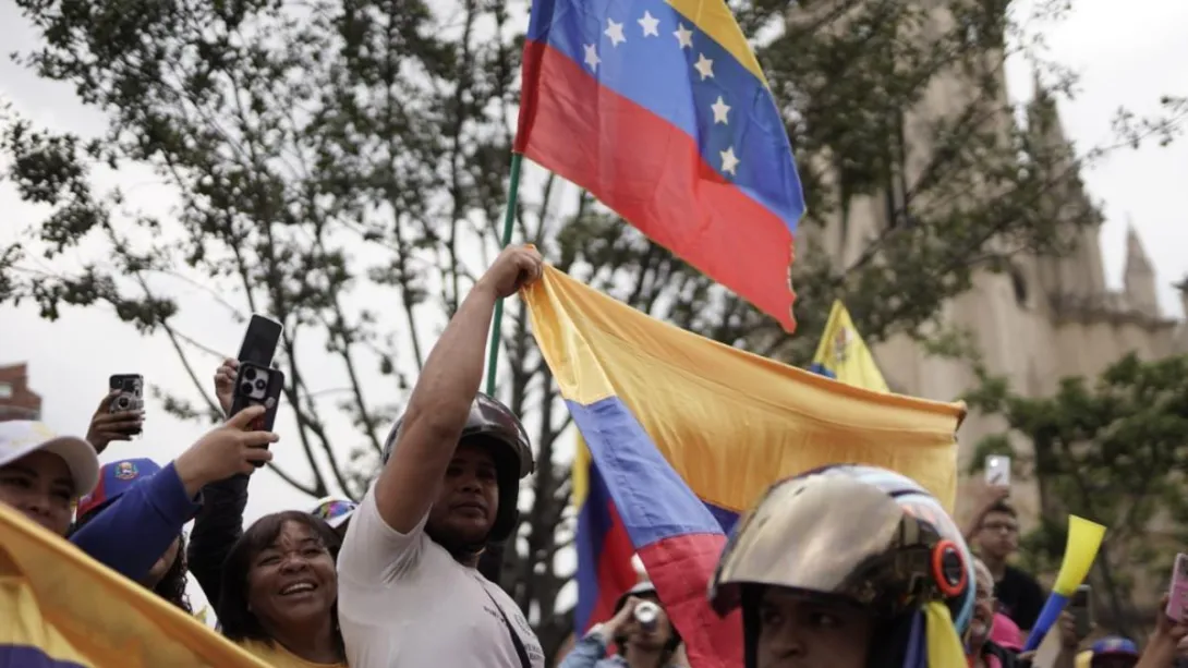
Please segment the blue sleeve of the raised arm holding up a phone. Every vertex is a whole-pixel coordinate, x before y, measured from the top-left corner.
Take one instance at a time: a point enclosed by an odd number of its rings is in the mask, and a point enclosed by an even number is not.
[[[139,582],[200,508],[201,494],[191,499],[173,462],[169,462],[97,510],[94,518],[70,536],[70,542],[91,559]]]

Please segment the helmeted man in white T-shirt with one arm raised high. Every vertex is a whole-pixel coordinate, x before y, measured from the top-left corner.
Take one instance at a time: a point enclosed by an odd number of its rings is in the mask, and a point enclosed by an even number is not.
[[[392,428],[385,465],[339,554],[339,622],[352,668],[543,668],[544,653],[503,590],[476,569],[513,537],[524,427],[479,393],[494,305],[541,276],[541,256],[505,250],[442,333]]]

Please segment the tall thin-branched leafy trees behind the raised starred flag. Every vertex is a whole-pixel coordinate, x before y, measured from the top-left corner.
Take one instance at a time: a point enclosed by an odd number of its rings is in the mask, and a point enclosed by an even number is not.
[[[80,137],[14,111],[4,119],[5,176],[50,213],[24,221],[23,247],[0,254],[0,297],[32,301],[46,319],[107,307],[166,336],[194,387],[157,391],[192,418],[215,415],[202,365],[217,357],[187,332],[183,289],[245,322],[277,317],[290,439],[312,473],[272,470],[314,496],[359,494],[435,332],[498,247],[527,2],[17,5],[40,36],[21,62],[108,122]],[[977,271],[1062,252],[1095,222],[1087,200],[1068,206],[1081,162],[1015,122],[1001,87],[1005,40],[1019,30],[1007,0],[836,0],[791,13],[754,0],[737,12],[747,34],[775,34],[757,52],[809,203],[794,267],[798,335],[552,177],[529,175],[517,239],[658,317],[803,363],[836,297],[872,341],[933,335]],[[1170,136],[1183,112],[1174,102],[1162,125],[1120,121],[1126,140]],[[100,185],[131,168],[151,169],[176,198],[168,214]],[[840,265],[824,240],[858,234],[860,208],[881,222]],[[504,585],[551,653],[569,626],[557,594],[570,573],[556,565],[573,534],[568,416],[518,304],[504,326],[499,395],[532,426],[541,462]],[[310,371],[327,365],[329,377]]]

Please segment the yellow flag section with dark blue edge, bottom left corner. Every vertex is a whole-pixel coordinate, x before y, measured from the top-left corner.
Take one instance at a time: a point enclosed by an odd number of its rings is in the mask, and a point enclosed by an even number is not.
[[[267,668],[0,504],[0,666]]]

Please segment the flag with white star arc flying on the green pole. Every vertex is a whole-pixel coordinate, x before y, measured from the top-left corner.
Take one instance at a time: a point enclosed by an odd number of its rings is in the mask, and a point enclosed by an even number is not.
[[[533,0],[514,150],[791,332],[804,197],[723,0]]]

